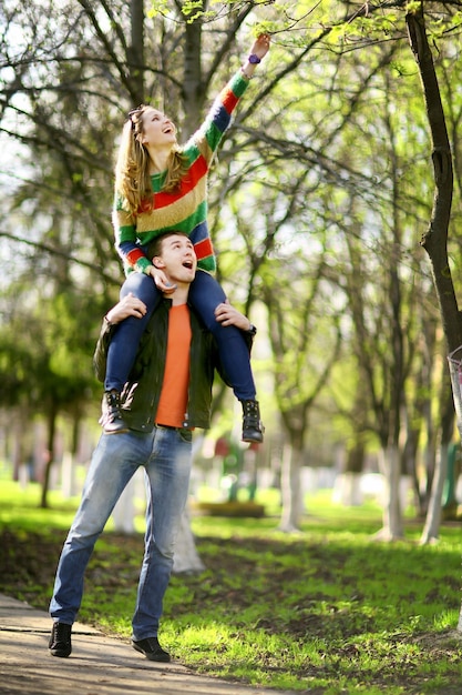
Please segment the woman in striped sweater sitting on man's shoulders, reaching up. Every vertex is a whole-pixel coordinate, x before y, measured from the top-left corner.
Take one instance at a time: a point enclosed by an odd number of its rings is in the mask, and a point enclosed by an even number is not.
[[[269,50],[269,36],[261,34],[228,84],[222,90],[202,127],[185,145],[176,140],[174,123],[161,111],[141,105],[129,114],[115,168],[114,230],[116,249],[127,279],[121,298],[132,293],[146,305],[146,313],[119,324],[107,353],[104,431],[126,431],[120,394],[135,360],[140,338],[162,293],[172,288],[163,272],[151,263],[150,243],[167,230],[185,232],[193,241],[198,272],[189,302],[214,334],[224,370],[243,405],[243,441],[263,442],[264,427],[250,369],[248,346],[242,332],[220,321],[217,306],[226,296],[215,281],[215,255],[207,228],[207,177],[214,153],[230,122],[230,114],[245,92],[255,67]],[[250,325],[255,333],[255,328]]]

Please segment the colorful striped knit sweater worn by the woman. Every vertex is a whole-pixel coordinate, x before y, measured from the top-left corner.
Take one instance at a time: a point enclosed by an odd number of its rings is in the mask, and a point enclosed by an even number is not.
[[[237,72],[215,100],[202,127],[182,148],[189,167],[177,190],[162,191],[166,172],[152,175],[153,204],[147,211],[143,211],[142,205],[136,215],[126,212],[122,197],[115,197],[115,246],[123,259],[125,273],[144,272],[151,261],[142,246],[168,230],[186,233],[194,244],[198,268],[215,271],[207,226],[207,174],[230,115],[247,85],[248,80]]]

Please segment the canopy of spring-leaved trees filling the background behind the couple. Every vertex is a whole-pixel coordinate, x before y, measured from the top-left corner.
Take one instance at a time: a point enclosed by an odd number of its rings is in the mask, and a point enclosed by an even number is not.
[[[319,437],[331,460],[339,441],[434,459],[439,365],[462,343],[459,3],[6,0],[0,26],[3,406],[95,392],[129,110],[186,139],[267,30],[209,190],[218,278],[265,326],[264,410],[301,463]]]

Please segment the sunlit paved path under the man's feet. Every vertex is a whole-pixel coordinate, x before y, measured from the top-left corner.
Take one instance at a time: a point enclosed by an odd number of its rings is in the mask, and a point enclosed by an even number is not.
[[[295,695],[197,675],[179,663],[156,664],[117,638],[75,623],[72,655],[49,654],[51,620],[0,594],[1,695]]]

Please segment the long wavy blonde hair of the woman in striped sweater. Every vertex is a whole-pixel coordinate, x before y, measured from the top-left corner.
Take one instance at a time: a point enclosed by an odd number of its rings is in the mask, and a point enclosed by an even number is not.
[[[115,192],[125,201],[127,212],[136,214],[140,205],[152,209],[150,154],[144,147],[143,113],[147,107],[141,104],[129,113],[123,127],[117,162],[115,164]],[[174,191],[187,172],[188,162],[179,145],[174,145],[167,167],[163,191]]]

